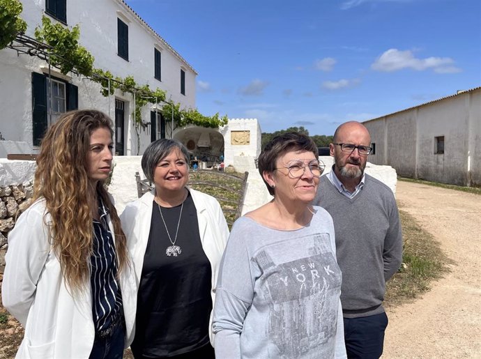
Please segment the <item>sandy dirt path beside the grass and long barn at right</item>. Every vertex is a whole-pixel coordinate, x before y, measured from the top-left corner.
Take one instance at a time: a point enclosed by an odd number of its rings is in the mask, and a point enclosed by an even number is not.
[[[396,197],[453,264],[422,298],[388,311],[383,358],[481,358],[481,196],[398,181]]]

